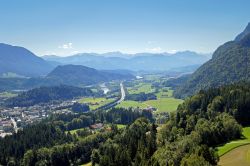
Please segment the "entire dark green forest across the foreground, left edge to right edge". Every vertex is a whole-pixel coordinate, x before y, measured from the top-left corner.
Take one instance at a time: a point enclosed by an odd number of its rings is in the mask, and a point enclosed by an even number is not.
[[[3,165],[216,165],[216,146],[241,137],[249,125],[250,83],[200,91],[157,127],[151,112],[108,111],[54,114],[13,136],[0,139]],[[96,134],[95,123],[126,124]],[[209,139],[208,139],[209,138]]]

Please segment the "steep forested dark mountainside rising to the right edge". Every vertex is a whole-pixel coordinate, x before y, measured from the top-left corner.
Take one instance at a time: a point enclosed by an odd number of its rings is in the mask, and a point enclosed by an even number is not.
[[[201,89],[250,80],[250,23],[234,41],[220,46],[175,92],[185,98]]]

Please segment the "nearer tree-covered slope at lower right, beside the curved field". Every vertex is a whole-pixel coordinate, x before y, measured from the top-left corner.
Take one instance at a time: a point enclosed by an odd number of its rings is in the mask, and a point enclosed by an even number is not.
[[[157,134],[154,124],[137,120],[94,150],[92,163],[215,165],[215,147],[240,138],[240,124],[248,124],[249,90],[250,84],[242,83],[201,91],[180,105]]]

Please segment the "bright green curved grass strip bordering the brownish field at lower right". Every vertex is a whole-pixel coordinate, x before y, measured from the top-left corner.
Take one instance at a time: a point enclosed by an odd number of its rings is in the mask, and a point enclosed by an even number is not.
[[[234,141],[226,143],[223,146],[219,146],[218,155],[222,156],[234,148],[237,148],[245,144],[250,144],[250,127],[244,127],[242,134],[243,134],[242,139],[234,140]]]

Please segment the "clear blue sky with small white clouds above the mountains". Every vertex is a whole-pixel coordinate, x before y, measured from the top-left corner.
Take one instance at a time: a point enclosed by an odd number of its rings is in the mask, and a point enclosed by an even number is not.
[[[250,22],[249,0],[0,0],[0,42],[37,55],[213,52]]]

